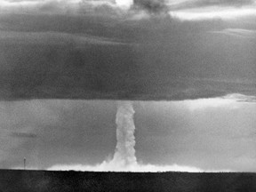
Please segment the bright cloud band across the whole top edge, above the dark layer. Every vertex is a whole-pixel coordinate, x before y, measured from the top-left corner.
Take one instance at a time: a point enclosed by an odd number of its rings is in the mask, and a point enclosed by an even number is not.
[[[148,10],[151,13],[169,10],[172,17],[180,20],[212,20],[216,18],[234,20],[240,17],[256,15],[255,2],[252,0],[213,1],[210,3],[204,0],[0,0],[0,10],[2,12],[77,14],[81,13],[81,10],[88,12],[88,10],[92,10],[95,7],[100,7],[100,10],[103,9],[109,15],[113,14],[114,10],[124,13],[136,7],[137,12],[132,12],[132,17],[134,13],[135,15],[140,15],[140,10]],[[101,14],[102,10],[100,10],[96,9],[96,12]],[[84,13],[84,11],[82,12]]]

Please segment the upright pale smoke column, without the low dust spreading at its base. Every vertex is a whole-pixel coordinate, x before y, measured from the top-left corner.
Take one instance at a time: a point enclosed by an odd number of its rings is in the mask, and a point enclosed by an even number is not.
[[[137,163],[135,156],[135,125],[132,101],[118,101],[116,112],[116,153],[112,160],[113,163],[123,167]]]

